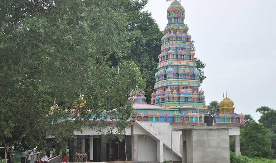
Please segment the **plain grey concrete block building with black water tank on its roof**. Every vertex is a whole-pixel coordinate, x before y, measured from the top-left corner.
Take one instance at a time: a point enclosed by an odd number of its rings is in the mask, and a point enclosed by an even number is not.
[[[182,163],[229,163],[229,127],[179,127]]]

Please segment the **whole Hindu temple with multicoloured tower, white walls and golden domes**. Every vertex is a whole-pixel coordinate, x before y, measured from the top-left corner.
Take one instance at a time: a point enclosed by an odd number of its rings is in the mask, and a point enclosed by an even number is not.
[[[155,74],[156,91],[152,93],[151,104],[146,103],[143,90],[137,88],[130,92],[128,100],[133,103],[135,120],[126,129],[125,138],[104,142],[105,135],[96,129],[87,127],[83,132],[75,131],[75,138],[68,144],[69,162],[75,161],[76,153],[86,153],[91,162],[182,160],[182,132],[172,129],[183,125],[204,128],[207,109],[204,91],[199,88],[200,71],[196,69],[195,52],[184,19],[184,8],[174,0],[167,9],[168,24]],[[71,119],[82,116],[77,108],[66,112]],[[112,110],[104,111],[100,117],[109,121],[111,114]],[[234,102],[227,93],[220,102],[219,114],[212,115],[212,118],[213,127],[229,128],[227,134],[235,136],[235,153],[240,154],[240,126],[246,125],[244,114],[235,113]],[[214,140],[212,146],[220,146],[220,142]]]

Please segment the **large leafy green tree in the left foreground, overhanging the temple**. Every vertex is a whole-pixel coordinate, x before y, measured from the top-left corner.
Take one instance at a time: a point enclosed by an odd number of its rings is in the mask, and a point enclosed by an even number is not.
[[[85,122],[114,108],[113,127],[124,133],[133,116],[128,93],[145,85],[136,63],[123,58],[132,51],[125,6],[139,8],[141,3],[0,2],[1,145],[44,149],[48,135],[71,139]],[[111,55],[117,56],[116,66],[108,60]],[[73,121],[64,109],[73,108],[80,95],[86,104],[79,112],[86,116]],[[97,116],[87,114],[88,109]]]

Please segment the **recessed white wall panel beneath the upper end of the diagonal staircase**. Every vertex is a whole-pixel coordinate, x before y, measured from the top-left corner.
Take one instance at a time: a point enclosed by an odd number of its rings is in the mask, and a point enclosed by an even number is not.
[[[150,136],[138,135],[138,161],[156,161],[156,141]]]

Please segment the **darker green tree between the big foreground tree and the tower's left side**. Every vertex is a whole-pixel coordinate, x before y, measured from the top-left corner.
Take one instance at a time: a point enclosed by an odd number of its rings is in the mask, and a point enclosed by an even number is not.
[[[146,81],[145,97],[147,102],[151,101],[151,93],[154,91],[155,73],[157,72],[158,55],[160,54],[161,38],[163,32],[160,31],[151,13],[141,12],[148,1],[136,2],[139,7],[132,5],[125,6],[127,9],[126,22],[129,32],[128,44],[131,52],[124,57],[133,59],[140,67],[142,78]],[[117,56],[109,58],[113,65],[117,65]]]

